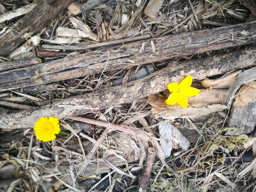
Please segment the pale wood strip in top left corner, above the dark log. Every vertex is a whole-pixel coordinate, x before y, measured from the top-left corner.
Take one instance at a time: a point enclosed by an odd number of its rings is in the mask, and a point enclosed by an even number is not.
[[[4,22],[6,20],[11,20],[15,17],[19,17],[20,15],[26,14],[29,11],[31,11],[36,6],[36,3],[31,3],[29,5],[22,6],[18,9],[8,11],[1,15],[0,17],[0,23]],[[0,10],[1,11],[1,10]]]

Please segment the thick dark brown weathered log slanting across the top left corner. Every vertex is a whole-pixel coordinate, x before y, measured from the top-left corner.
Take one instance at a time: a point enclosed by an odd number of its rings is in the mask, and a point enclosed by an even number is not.
[[[8,29],[0,41],[0,55],[6,57],[26,42],[27,36],[37,34],[41,29],[64,11],[74,0],[37,0],[36,6]]]

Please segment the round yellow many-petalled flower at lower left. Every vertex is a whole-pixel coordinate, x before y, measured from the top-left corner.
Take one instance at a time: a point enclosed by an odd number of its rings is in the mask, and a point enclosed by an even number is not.
[[[36,137],[40,141],[51,141],[55,139],[55,134],[59,134],[60,125],[57,117],[41,117],[34,126]]]

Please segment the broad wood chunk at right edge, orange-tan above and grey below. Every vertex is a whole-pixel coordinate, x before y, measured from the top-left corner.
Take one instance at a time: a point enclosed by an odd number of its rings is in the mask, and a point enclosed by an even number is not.
[[[237,131],[227,131],[229,135],[251,133],[256,119],[256,83],[244,84],[237,93],[228,121],[230,127],[242,127]]]

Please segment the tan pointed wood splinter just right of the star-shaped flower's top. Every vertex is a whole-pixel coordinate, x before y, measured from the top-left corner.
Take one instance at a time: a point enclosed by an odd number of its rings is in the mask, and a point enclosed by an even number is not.
[[[236,77],[241,72],[242,72],[242,70],[235,71],[233,73],[223,75],[222,77],[217,78],[217,79],[206,78],[201,82],[201,84],[202,84],[203,88],[206,88],[206,89],[210,88],[210,87],[212,87],[214,89],[229,87],[232,83],[234,83]]]

